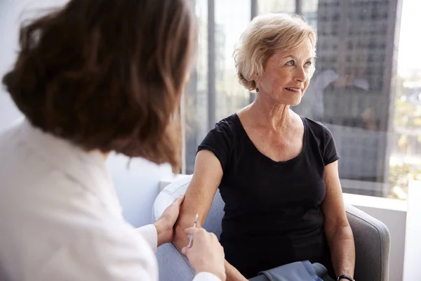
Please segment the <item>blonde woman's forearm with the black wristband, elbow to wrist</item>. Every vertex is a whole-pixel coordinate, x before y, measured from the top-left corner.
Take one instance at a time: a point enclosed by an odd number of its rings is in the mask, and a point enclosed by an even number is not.
[[[333,233],[326,235],[326,239],[335,274],[354,277],[355,244],[351,226],[338,226]]]

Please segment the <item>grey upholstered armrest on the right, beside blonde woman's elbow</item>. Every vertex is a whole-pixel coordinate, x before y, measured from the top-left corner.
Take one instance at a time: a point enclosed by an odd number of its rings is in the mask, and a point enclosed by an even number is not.
[[[347,218],[354,233],[355,280],[389,280],[390,233],[384,223],[345,204]]]

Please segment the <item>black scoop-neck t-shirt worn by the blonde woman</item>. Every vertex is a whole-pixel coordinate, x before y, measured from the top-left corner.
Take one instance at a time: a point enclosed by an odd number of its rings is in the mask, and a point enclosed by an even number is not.
[[[227,261],[247,278],[304,260],[322,263],[334,275],[321,202],[325,166],[339,156],[330,131],[301,118],[302,152],[286,162],[262,155],[236,114],[215,124],[199,145],[199,151],[210,150],[222,165],[220,242]]]

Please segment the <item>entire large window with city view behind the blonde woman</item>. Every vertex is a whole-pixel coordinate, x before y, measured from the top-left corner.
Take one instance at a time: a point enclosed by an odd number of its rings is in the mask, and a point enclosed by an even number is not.
[[[421,41],[410,31],[421,4],[411,0],[195,3],[200,34],[196,70],[185,98],[188,174],[194,171],[197,145],[213,124],[253,101],[253,94],[236,79],[232,58],[252,15],[301,13],[318,30],[318,59],[305,98],[293,110],[332,131],[345,192],[406,199],[408,178],[421,178],[421,60],[411,55],[418,53]],[[347,77],[341,79],[346,82],[335,83],[338,77]]]

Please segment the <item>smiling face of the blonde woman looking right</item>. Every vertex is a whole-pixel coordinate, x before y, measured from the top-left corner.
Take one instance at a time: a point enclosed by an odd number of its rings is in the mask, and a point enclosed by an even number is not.
[[[313,74],[314,56],[309,39],[293,50],[274,53],[256,80],[259,96],[265,95],[274,103],[298,105]]]

